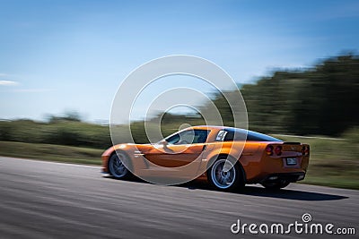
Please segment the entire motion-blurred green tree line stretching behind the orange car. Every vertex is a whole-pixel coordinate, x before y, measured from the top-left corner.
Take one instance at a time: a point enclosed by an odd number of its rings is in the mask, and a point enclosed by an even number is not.
[[[241,94],[247,105],[250,130],[338,136],[359,125],[359,57],[340,55],[310,69],[276,71],[253,84],[242,85]],[[214,93],[212,98],[223,117],[223,124],[232,126],[232,111],[223,95]],[[202,109],[206,110],[206,107],[204,105]],[[157,117],[162,119],[163,136],[178,131],[181,124],[205,124],[201,115],[164,114]],[[148,142],[143,121],[131,123],[131,130],[136,142]],[[92,148],[106,148],[111,144],[108,126],[84,123],[76,113],[52,115],[46,123],[0,121],[0,141]],[[128,139],[124,136],[121,141]]]

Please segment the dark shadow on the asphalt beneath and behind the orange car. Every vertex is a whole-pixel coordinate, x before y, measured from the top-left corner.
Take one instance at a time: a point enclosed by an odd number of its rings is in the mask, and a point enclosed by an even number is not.
[[[113,180],[116,180],[112,177],[109,177]],[[141,180],[139,178],[127,179],[126,181],[136,182],[139,184],[150,184]],[[171,187],[183,187],[188,188],[188,190],[206,190],[220,192],[212,188],[209,184],[201,181],[192,181],[186,184],[173,185]],[[266,198],[277,198],[277,199],[286,199],[286,200],[296,200],[296,201],[336,201],[347,199],[346,196],[320,193],[320,192],[305,192],[293,189],[281,189],[281,190],[267,190],[258,186],[247,185],[241,190],[236,190],[232,192],[222,192],[222,193],[234,193],[239,195],[249,195],[255,197],[266,197]]]

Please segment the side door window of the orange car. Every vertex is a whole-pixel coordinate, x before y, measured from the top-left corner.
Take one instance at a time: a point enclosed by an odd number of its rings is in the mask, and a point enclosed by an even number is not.
[[[207,140],[209,131],[207,130],[187,130],[176,133],[167,137],[164,141],[169,144],[192,144],[192,143],[204,143]]]

